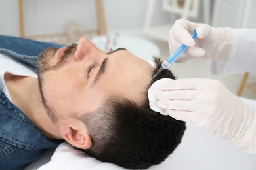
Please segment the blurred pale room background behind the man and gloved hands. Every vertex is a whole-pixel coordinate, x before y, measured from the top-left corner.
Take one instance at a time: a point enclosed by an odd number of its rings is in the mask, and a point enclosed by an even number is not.
[[[166,59],[175,20],[255,28],[255,8],[253,0],[1,0],[0,33],[62,44],[85,36],[102,50],[123,46],[146,60]],[[231,92],[256,99],[256,73],[211,75],[205,59],[174,63],[170,69],[177,78],[221,80]]]

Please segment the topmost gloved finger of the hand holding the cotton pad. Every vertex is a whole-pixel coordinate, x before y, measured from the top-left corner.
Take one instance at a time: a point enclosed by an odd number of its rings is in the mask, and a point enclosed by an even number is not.
[[[165,82],[158,84],[157,88],[160,90],[193,90],[207,80],[206,78],[167,79]]]

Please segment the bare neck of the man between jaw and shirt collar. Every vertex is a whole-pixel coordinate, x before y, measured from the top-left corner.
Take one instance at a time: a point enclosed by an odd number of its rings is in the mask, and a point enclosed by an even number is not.
[[[12,103],[22,110],[45,137],[63,139],[60,135],[60,127],[49,120],[43,107],[37,78],[5,73],[5,84]]]

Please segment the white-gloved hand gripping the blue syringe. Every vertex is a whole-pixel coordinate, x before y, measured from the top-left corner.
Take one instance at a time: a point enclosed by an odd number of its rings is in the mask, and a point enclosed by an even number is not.
[[[197,37],[191,35],[196,29]],[[195,46],[196,43],[196,46]],[[189,46],[176,62],[185,62],[188,59],[206,58],[211,60],[228,60],[234,56],[237,50],[237,36],[229,27],[210,27],[207,24],[199,24],[188,20],[179,19],[169,31],[170,55],[181,44]]]

